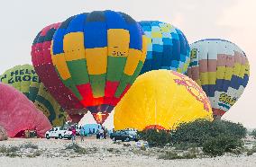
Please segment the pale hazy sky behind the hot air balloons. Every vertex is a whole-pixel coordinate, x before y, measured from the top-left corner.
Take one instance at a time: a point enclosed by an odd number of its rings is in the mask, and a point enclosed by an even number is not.
[[[246,53],[251,65],[248,86],[224,119],[256,128],[256,1],[255,0],[0,0],[0,74],[32,64],[32,40],[43,27],[78,13],[114,10],[136,21],[169,22],[189,43],[207,38],[230,40]],[[113,115],[105,121],[113,127]],[[90,115],[82,122],[93,123]]]

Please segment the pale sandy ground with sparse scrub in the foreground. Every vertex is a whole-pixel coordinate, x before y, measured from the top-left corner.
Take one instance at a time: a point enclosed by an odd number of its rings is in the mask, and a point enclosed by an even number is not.
[[[9,139],[0,142],[0,146],[23,145],[24,143],[38,145],[38,149],[23,149],[21,157],[9,157],[0,155],[1,167],[13,166],[232,166],[246,167],[256,166],[256,154],[246,155],[224,155],[216,158],[182,159],[182,160],[161,160],[156,154],[160,150],[148,149],[141,151],[134,142],[130,145],[123,143],[114,144],[110,139],[96,140],[86,138],[84,142],[77,140],[78,145],[88,150],[87,154],[77,154],[65,149],[69,140],[59,139]],[[127,143],[126,143],[127,144]],[[36,157],[28,157],[28,154],[40,151]]]

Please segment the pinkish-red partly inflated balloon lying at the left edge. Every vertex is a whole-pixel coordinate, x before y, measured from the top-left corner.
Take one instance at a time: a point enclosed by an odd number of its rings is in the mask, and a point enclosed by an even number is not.
[[[36,109],[32,101],[14,87],[2,83],[0,83],[0,125],[5,127],[9,137],[17,136],[23,130],[34,129],[37,130],[38,136],[44,137],[45,132],[51,128],[49,119]]]

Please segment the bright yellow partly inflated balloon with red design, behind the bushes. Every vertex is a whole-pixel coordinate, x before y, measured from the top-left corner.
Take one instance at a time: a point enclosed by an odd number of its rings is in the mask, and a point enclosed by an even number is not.
[[[186,75],[153,70],[140,75],[114,108],[114,129],[175,129],[195,119],[213,119],[206,93]]]

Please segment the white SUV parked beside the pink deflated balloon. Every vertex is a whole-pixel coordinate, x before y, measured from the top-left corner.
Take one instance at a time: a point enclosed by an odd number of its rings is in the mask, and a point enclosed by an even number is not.
[[[45,133],[45,137],[47,139],[50,139],[50,137],[54,137],[56,139],[68,138],[70,140],[72,138],[72,132],[65,127],[52,127]]]

